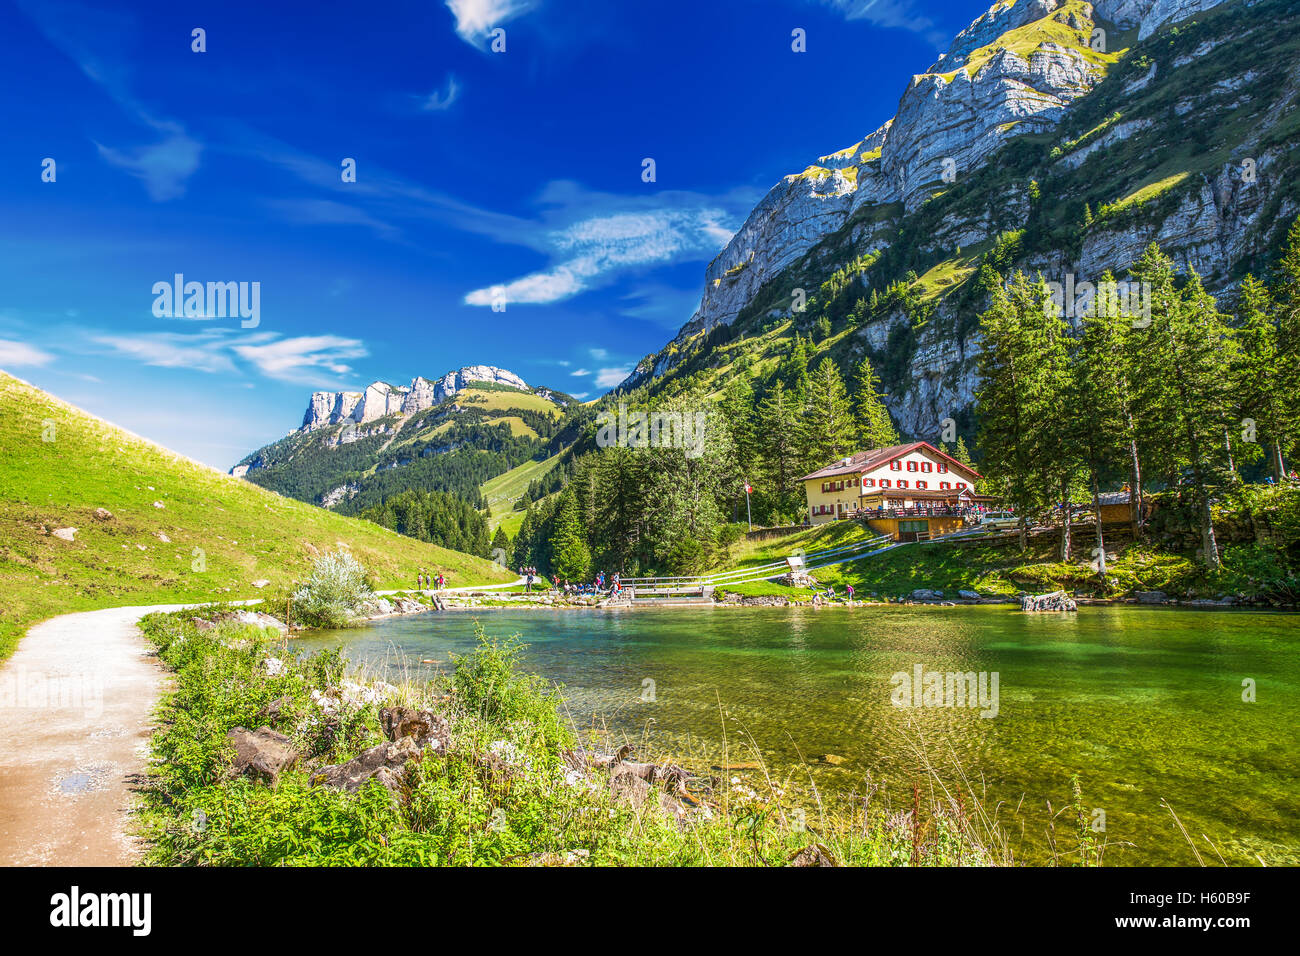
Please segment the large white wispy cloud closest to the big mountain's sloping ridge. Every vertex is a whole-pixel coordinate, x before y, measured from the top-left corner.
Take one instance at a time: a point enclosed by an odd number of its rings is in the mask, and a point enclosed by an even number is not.
[[[490,306],[503,297],[510,304],[545,304],[604,285],[627,269],[707,260],[731,239],[753,199],[748,191],[716,198],[688,191],[610,195],[552,182],[540,199],[541,221],[512,237],[542,246],[551,265],[476,289],[465,303]]]

